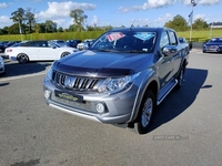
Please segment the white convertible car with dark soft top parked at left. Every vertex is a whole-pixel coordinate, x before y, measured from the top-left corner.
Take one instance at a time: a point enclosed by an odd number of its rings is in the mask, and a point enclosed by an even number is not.
[[[61,46],[50,41],[28,41],[16,48],[7,48],[4,54],[12,61],[27,63],[29,61],[59,60],[65,55],[77,52],[78,49]]]

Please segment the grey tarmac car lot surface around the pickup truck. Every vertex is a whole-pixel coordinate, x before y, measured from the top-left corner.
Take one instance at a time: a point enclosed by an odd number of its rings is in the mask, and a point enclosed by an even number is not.
[[[51,62],[6,63],[0,165],[222,165],[222,54],[192,50],[184,86],[158,106],[150,133],[91,122],[44,103]]]

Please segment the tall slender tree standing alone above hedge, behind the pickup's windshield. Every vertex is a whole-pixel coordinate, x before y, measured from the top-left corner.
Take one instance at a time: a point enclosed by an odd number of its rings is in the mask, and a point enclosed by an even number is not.
[[[81,9],[74,9],[70,11],[70,17],[73,19],[73,23],[75,25],[75,29],[81,32],[84,30],[83,23],[87,20],[88,15],[84,14],[84,12]]]

